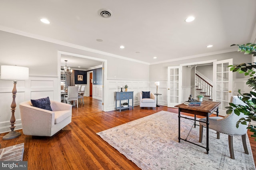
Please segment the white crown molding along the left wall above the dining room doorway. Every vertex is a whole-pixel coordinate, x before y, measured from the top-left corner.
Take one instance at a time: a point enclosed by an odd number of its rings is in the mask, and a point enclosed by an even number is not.
[[[63,42],[63,41],[60,41],[60,40],[55,40],[55,39],[52,39],[52,38],[39,36],[39,35],[36,35],[36,34],[30,34],[30,33],[27,33],[27,32],[22,32],[20,30],[15,30],[15,29],[12,29],[12,28],[4,27],[4,26],[0,26],[0,30],[4,31],[4,32],[10,32],[10,33],[13,33],[13,34],[18,34],[20,36],[25,36],[25,37],[34,38],[34,39],[37,39],[37,40],[42,40],[42,41],[45,41],[45,42],[56,43],[56,44],[64,45],[64,46],[67,46],[67,47],[72,47],[72,48],[81,49],[81,50],[84,50],[84,51],[89,51],[89,52],[92,52],[92,53],[98,53],[98,54],[107,55],[107,56],[110,56],[110,57],[116,57],[116,58],[119,58],[119,59],[125,59],[125,60],[128,60],[128,61],[133,61],[133,62],[137,62],[137,63],[150,65],[150,63],[148,63],[148,62],[144,62],[144,61],[140,61],[140,60],[136,60],[136,59],[131,59],[131,58],[128,58],[128,57],[123,57],[121,55],[107,53],[107,52],[100,51],[100,50],[97,50],[97,49],[92,49],[92,48],[84,47],[84,46],[81,46],[81,45],[76,45],[76,44],[72,44],[72,43],[68,43],[68,42]]]

